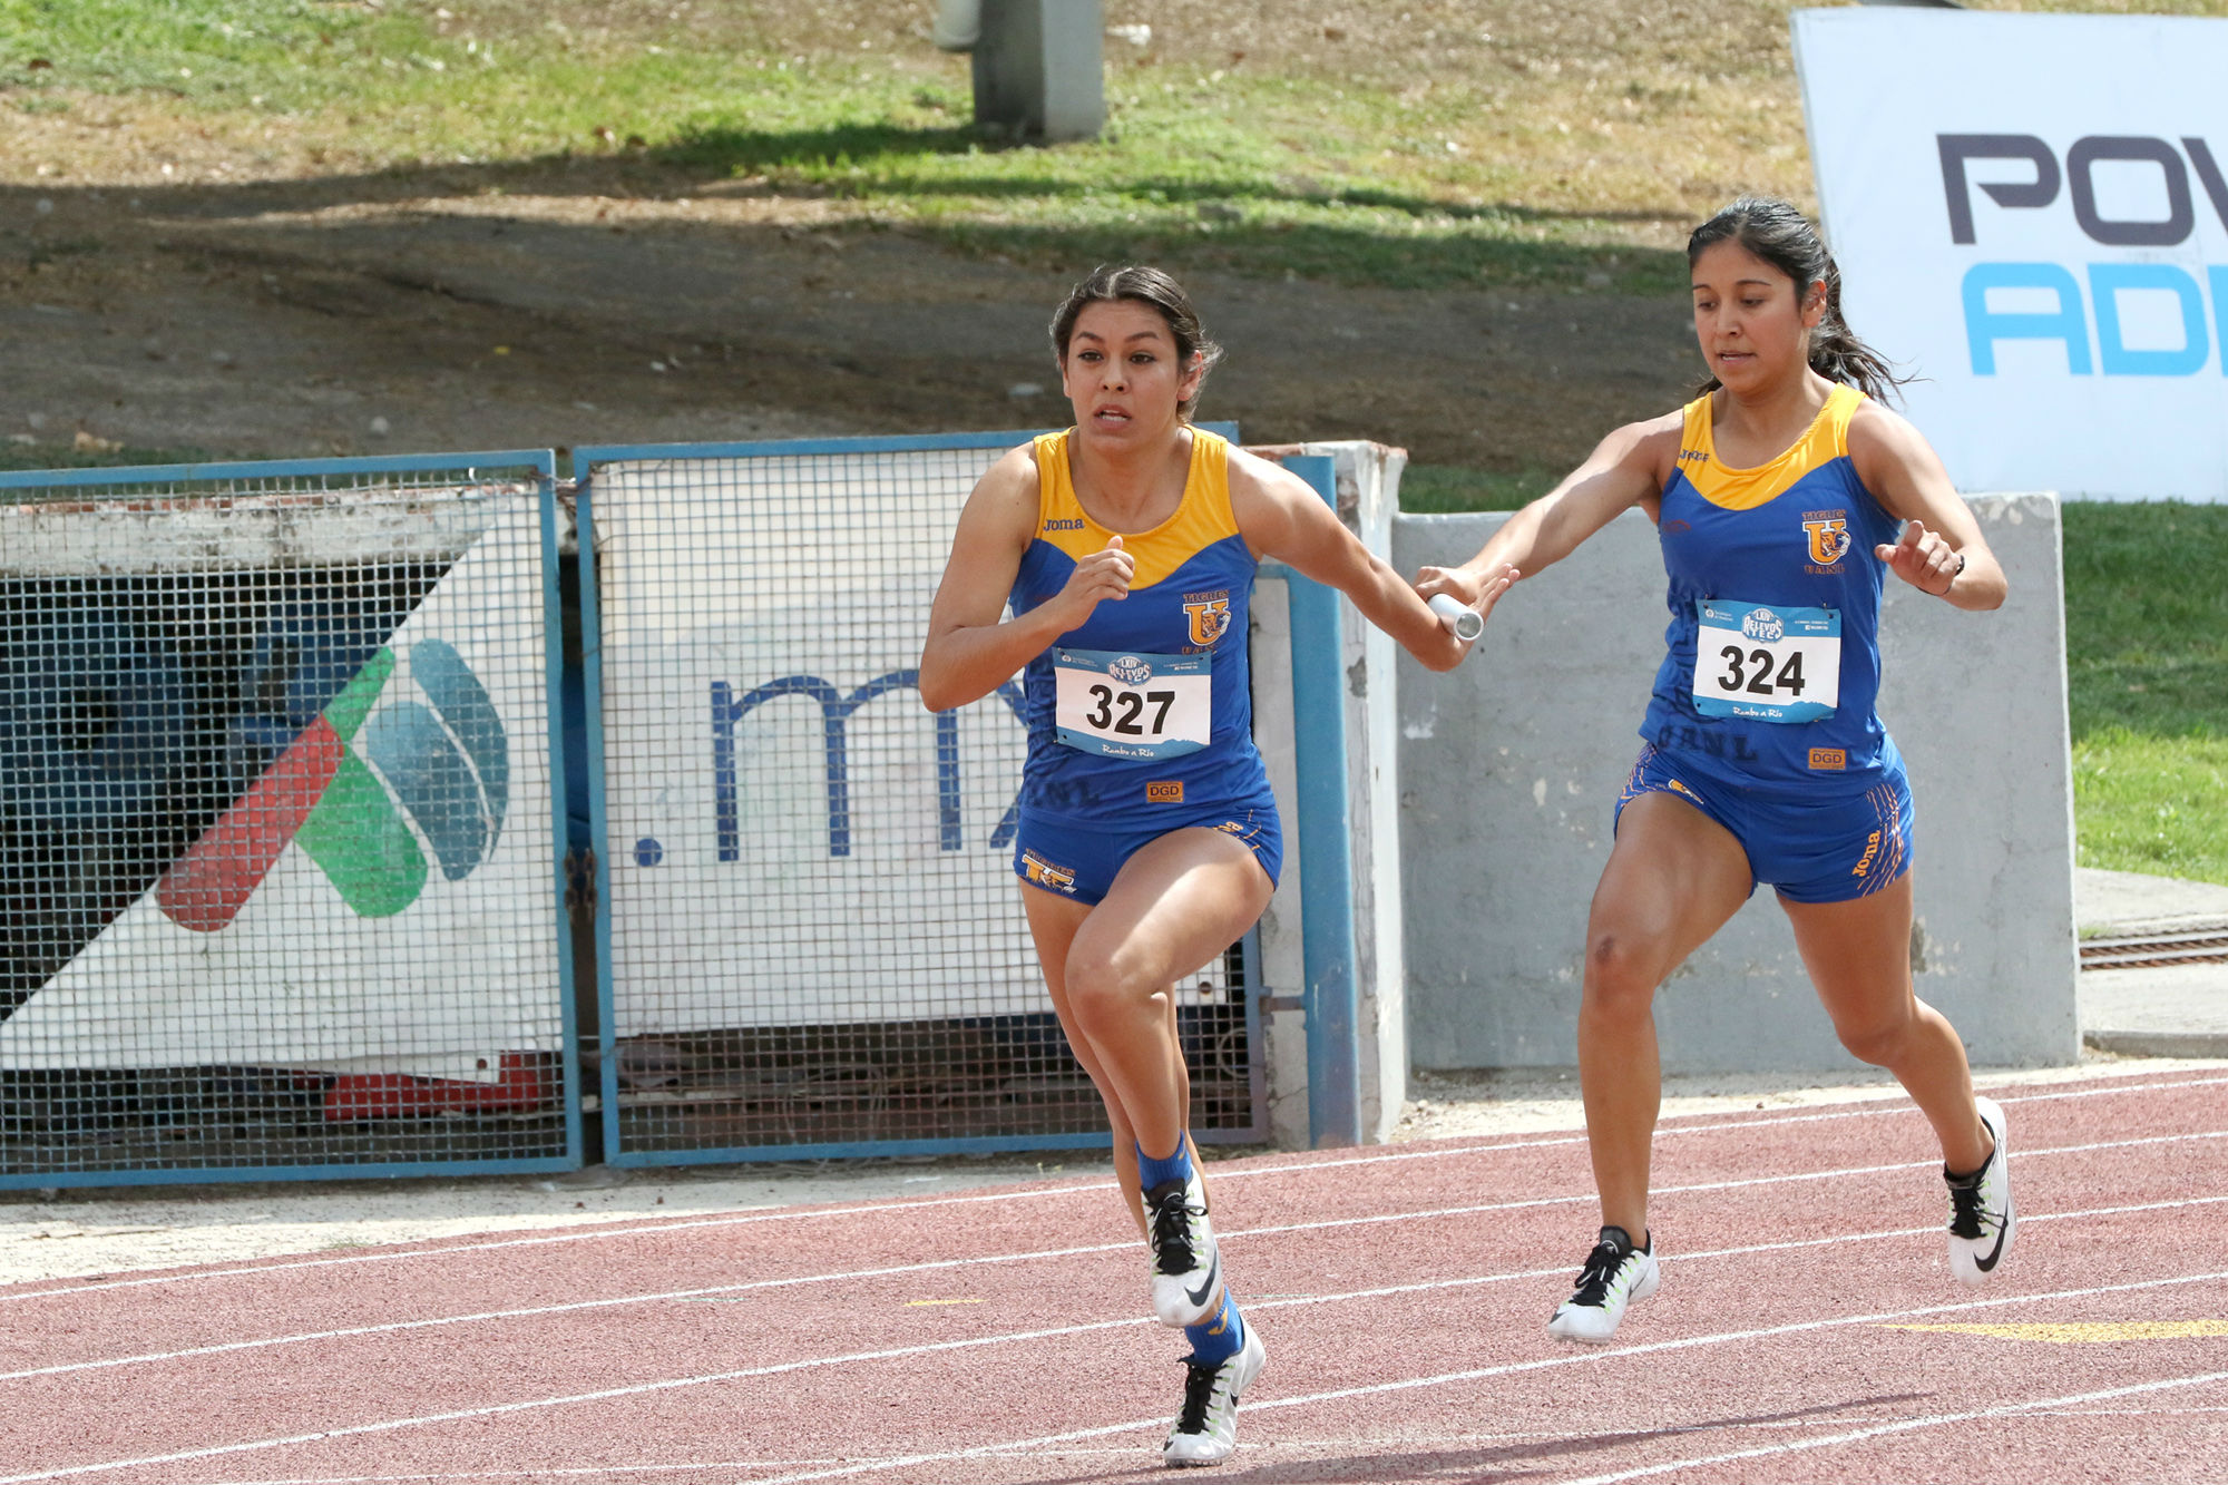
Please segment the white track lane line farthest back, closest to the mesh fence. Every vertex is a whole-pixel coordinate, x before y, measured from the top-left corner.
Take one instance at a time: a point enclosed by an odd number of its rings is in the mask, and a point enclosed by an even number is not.
[[[2036,1093],[2036,1095],[2025,1095],[2025,1097],[2005,1097],[2005,1099],[1996,1099],[1996,1101],[1999,1104],[2045,1104],[2045,1101],[2054,1101],[2054,1099],[2105,1097],[2105,1095],[2112,1095],[2112,1093],[2172,1093],[2177,1088],[2203,1088],[2203,1086],[2212,1086],[2212,1084],[2228,1084],[2228,1077],[2188,1077],[2188,1079],[2163,1081],[2163,1084],[2117,1084],[2117,1086],[2110,1086],[2110,1088],[2085,1088],[2083,1086],[2083,1088],[2070,1088],[2065,1093]],[[1823,1122],[1823,1119],[1872,1119],[1872,1117],[1905,1115],[1905,1113],[1914,1113],[1909,1108],[1909,1104],[1905,1104],[1900,1099],[1880,1099],[1878,1104],[1865,1104],[1860,1108],[1843,1108],[1843,1110],[1831,1110],[1831,1113],[1787,1113],[1787,1115],[1767,1113],[1765,1117],[1758,1117],[1758,1119],[1736,1119],[1736,1122],[1729,1122],[1729,1124],[1675,1124],[1675,1122],[1667,1119],[1664,1124],[1658,1126],[1655,1133],[1658,1133],[1658,1137],[1662,1137],[1662,1135],[1709,1135],[1709,1133],[1722,1133],[1722,1130],[1762,1128],[1762,1126],[1771,1126],[1771,1124],[1811,1124],[1811,1122]],[[1680,1117],[1700,1119],[1700,1117],[1716,1117],[1716,1115],[1680,1115]],[[1584,1135],[1557,1135],[1553,1139],[1508,1139],[1508,1142],[1502,1142],[1502,1144],[1439,1146],[1439,1148],[1430,1148],[1430,1151],[1386,1151],[1386,1153],[1379,1153],[1379,1155],[1348,1155],[1348,1157],[1337,1157],[1337,1159],[1290,1162],[1290,1164],[1281,1164],[1281,1166],[1254,1166],[1254,1168],[1245,1168],[1245,1171],[1221,1171],[1221,1168],[1216,1168],[1214,1171],[1214,1180],[1216,1182],[1232,1182],[1232,1180],[1250,1180],[1250,1177],[1257,1177],[1257,1175],[1294,1175],[1294,1173],[1310,1173],[1310,1171],[1337,1171],[1337,1168],[1343,1168],[1343,1166],[1381,1166],[1381,1164],[1399,1164],[1399,1162],[1410,1162],[1410,1159],[1448,1159],[1448,1157],[1455,1157],[1455,1155],[1495,1155],[1499,1151],[1537,1151],[1537,1148],[1551,1148],[1551,1146],[1584,1144],[1584,1139],[1586,1139]],[[1916,1162],[1916,1164],[1932,1164],[1932,1162]],[[1880,1168],[1892,1168],[1892,1166],[1880,1166]],[[922,1209],[931,1209],[931,1206],[974,1206],[974,1204],[983,1204],[983,1202],[1043,1200],[1043,1197],[1063,1197],[1063,1195],[1105,1193],[1105,1191],[1112,1191],[1112,1188],[1114,1188],[1114,1182],[1085,1182],[1081,1186],[1043,1186],[1043,1188],[1036,1188],[1036,1191],[1027,1191],[1027,1188],[983,1191],[983,1193],[974,1193],[974,1195],[949,1195],[949,1197],[905,1197],[905,1200],[896,1200],[896,1202],[860,1202],[860,1204],[853,1204],[853,1206],[822,1206],[822,1209],[813,1209],[813,1211],[786,1211],[786,1209],[784,1211],[746,1211],[746,1213],[731,1213],[731,1215],[715,1215],[715,1217],[675,1217],[675,1220],[668,1220],[668,1222],[642,1222],[642,1224],[635,1224],[635,1226],[610,1226],[610,1229],[588,1229],[588,1231],[575,1229],[575,1231],[566,1231],[566,1233],[548,1233],[548,1235],[535,1235],[535,1238],[495,1238],[495,1240],[488,1240],[488,1242],[459,1242],[459,1244],[450,1244],[450,1246],[441,1246],[441,1249],[408,1246],[408,1249],[390,1249],[390,1251],[381,1251],[381,1253],[350,1253],[348,1258],[307,1258],[307,1260],[294,1260],[294,1262],[236,1264],[232,1269],[194,1269],[189,1273],[154,1273],[154,1275],[147,1275],[147,1278],[102,1280],[102,1282],[94,1282],[94,1284],[67,1284],[67,1287],[60,1287],[60,1289],[31,1289],[31,1291],[20,1291],[18,1289],[18,1291],[9,1293],[7,1291],[9,1287],[0,1287],[0,1304],[16,1302],[16,1300],[76,1298],[76,1295],[85,1295],[85,1293],[100,1293],[105,1289],[145,1289],[145,1287],[152,1287],[152,1284],[187,1284],[187,1282],[201,1282],[201,1280],[243,1278],[243,1275],[245,1278],[256,1278],[256,1275],[265,1275],[265,1273],[283,1273],[287,1269],[336,1269],[336,1266],[354,1266],[354,1264],[385,1264],[385,1262],[401,1262],[401,1260],[448,1258],[452,1253],[490,1253],[490,1251],[497,1251],[497,1249],[553,1246],[553,1244],[566,1244],[566,1242],[608,1242],[608,1240],[615,1240],[615,1238],[659,1238],[664,1233],[686,1233],[686,1231],[697,1231],[697,1229],[706,1229],[706,1226],[746,1226],[746,1224],[758,1224],[758,1222],[820,1222],[820,1220],[829,1220],[829,1217],[860,1217],[860,1215],[869,1215],[871,1217],[871,1215],[885,1215],[885,1213],[893,1213],[893,1211],[922,1211]],[[29,1282],[49,1284],[53,1280],[29,1280]]]

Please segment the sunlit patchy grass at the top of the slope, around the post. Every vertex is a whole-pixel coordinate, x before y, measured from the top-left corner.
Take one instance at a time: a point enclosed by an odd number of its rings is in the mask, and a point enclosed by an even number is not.
[[[980,254],[1386,288],[1660,294],[1700,212],[1807,194],[1778,0],[1575,0],[1491,27],[1450,0],[1357,0],[1337,25],[1116,4],[1154,42],[1107,45],[1107,134],[1056,147],[976,129],[967,58],[929,49],[913,9],[0,0],[0,107],[53,181],[599,156],[648,192],[789,198]]]

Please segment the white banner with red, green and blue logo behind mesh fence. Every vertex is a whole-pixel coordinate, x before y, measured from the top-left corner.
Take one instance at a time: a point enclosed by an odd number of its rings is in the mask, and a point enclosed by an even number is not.
[[[114,551],[134,511],[76,520]],[[483,520],[276,763],[0,1019],[0,1068],[492,1081],[561,1046],[537,497]]]

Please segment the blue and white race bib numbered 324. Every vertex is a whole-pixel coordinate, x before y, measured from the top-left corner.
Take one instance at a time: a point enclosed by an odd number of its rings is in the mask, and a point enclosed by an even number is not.
[[[1698,598],[1693,709],[1749,722],[1816,722],[1840,705],[1840,615]]]

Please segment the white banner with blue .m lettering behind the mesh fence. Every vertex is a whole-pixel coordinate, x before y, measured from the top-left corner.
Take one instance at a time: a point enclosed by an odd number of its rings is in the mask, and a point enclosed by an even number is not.
[[[916,685],[998,453],[597,468],[615,1037],[1049,1008],[1018,680],[940,716]]]

